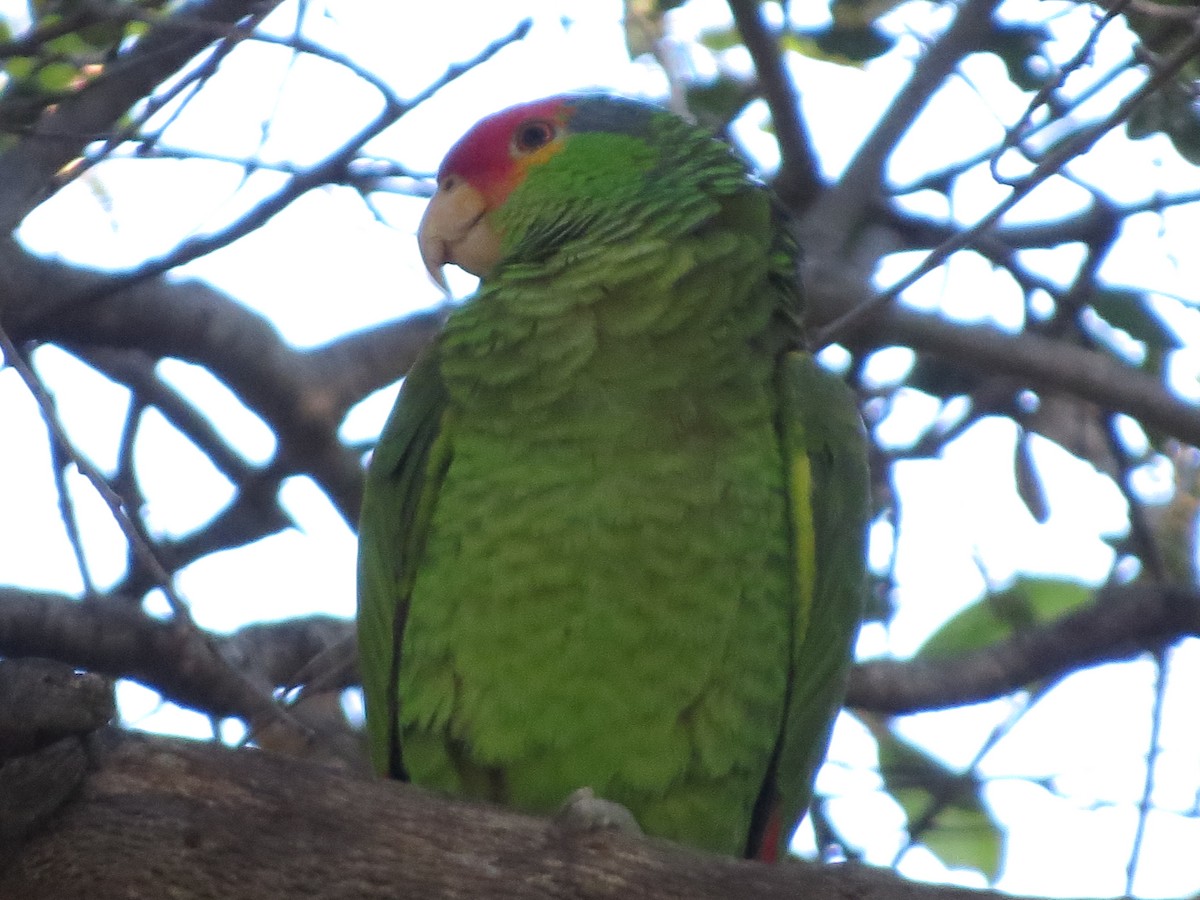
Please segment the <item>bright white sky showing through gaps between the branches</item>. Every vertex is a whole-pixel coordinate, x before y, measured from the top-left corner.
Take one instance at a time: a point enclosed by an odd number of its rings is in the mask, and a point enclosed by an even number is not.
[[[14,0],[0,0],[0,13]],[[793,14],[808,5],[793,4]],[[820,14],[816,7],[814,11]],[[19,7],[19,5],[18,5]],[[520,7],[520,8],[517,8]],[[337,2],[322,13],[318,5],[306,19],[306,35],[340,49],[376,72],[398,94],[408,96],[442,74],[448,61],[474,56],[487,42],[520,18],[533,16],[535,26],[521,44],[504,50],[481,70],[445,89],[434,103],[406,116],[376,140],[370,150],[397,158],[413,169],[433,170],[445,149],[479,116],[511,102],[589,86],[628,94],[661,95],[665,82],[658,68],[630,62],[624,47],[619,2],[389,4]],[[1020,0],[1012,16],[1052,17],[1072,8]],[[913,10],[907,10],[913,16]],[[930,29],[947,10],[917,11],[913,28]],[[564,26],[559,16],[572,19]],[[290,17],[290,18],[289,18]],[[281,35],[294,25],[295,6],[271,18]],[[923,18],[924,17],[924,18]],[[672,18],[674,34],[685,42],[712,23],[727,20],[719,0],[692,0]],[[454,23],[452,28],[448,23]],[[1082,32],[1086,14],[1076,8],[1055,28]],[[815,24],[815,23],[804,23]],[[896,25],[900,28],[900,24]],[[1115,62],[1118,42],[1102,41],[1096,65]],[[1069,44],[1064,55],[1073,52]],[[876,60],[863,71],[793,58],[803,91],[804,112],[816,136],[827,173],[839,172],[865,136],[895,89],[907,76],[918,43],[901,40],[901,52]],[[712,60],[692,60],[702,71]],[[746,66],[738,54],[727,65]],[[1062,60],[1058,60],[1062,61]],[[952,79],[928,115],[913,128],[896,154],[892,175],[898,182],[950,162],[964,148],[995,140],[1003,122],[1015,120],[1027,97],[1007,84],[992,58],[967,61],[970,79]],[[974,85],[992,106],[985,107]],[[1105,102],[1105,101],[1098,101]],[[164,143],[202,148],[211,154],[310,163],[358,130],[377,109],[377,98],[337,67],[313,60],[290,65],[282,48],[244,46],[222,72],[192,102],[167,132]],[[769,136],[758,131],[764,114],[751,108],[739,136],[748,148],[773,164]],[[259,146],[262,125],[271,119],[270,134]],[[1164,142],[1152,139],[1128,146],[1118,137],[1096,160],[1075,173],[1117,202],[1159,188],[1200,186],[1196,169],[1180,164]],[[1120,179],[1112,176],[1120,172]],[[1015,173],[1009,173],[1015,174]],[[34,250],[89,266],[124,269],[169,251],[180,239],[218,228],[271,190],[276,176],[258,174],[241,184],[241,170],[216,162],[114,160],[64,190],[29,217],[22,239]],[[984,215],[1003,193],[984,178],[967,179],[953,196],[953,214],[970,223]],[[1022,203],[1012,217],[1037,218],[1062,192],[1080,188],[1060,181]],[[439,302],[416,253],[413,232],[422,200],[377,196],[385,223],[348,188],[308,194],[263,228],[232,247],[185,266],[180,276],[208,280],[268,316],[298,346],[330,341],[414,308]],[[946,214],[942,197],[923,197],[930,211]],[[1192,241],[1200,234],[1200,212],[1175,210],[1163,218],[1141,216],[1130,223],[1144,240],[1104,270],[1116,283],[1150,284],[1164,296],[1195,296],[1200,254]],[[1056,251],[1057,252],[1057,251]],[[1072,251],[1057,252],[1045,271],[1066,281],[1078,262]],[[889,259],[878,274],[890,283],[919,262],[918,254]],[[1152,274],[1151,274],[1152,272]],[[472,281],[454,282],[469,292]],[[1013,328],[1019,319],[1019,295],[1007,276],[978,259],[960,256],[949,266],[924,278],[906,294],[923,308]],[[1192,349],[1178,354],[1175,382],[1200,401],[1200,316],[1166,304],[1168,316]],[[128,394],[86,370],[72,358],[43,348],[36,354],[40,372],[55,391],[59,410],[74,440],[101,467],[115,462],[119,428]],[[905,350],[878,354],[871,376],[881,383],[902,378],[911,362]],[[269,460],[274,438],[210,376],[182,362],[164,362],[164,378],[208,413],[241,452],[256,462]],[[344,433],[373,437],[390,408],[395,389],[368,398],[347,419]],[[880,428],[884,440],[904,440],[929,420],[936,404],[906,392]],[[0,371],[0,410],[7,433],[0,454],[0,497],[12,512],[0,516],[0,583],[78,592],[82,587],[70,545],[62,533],[50,479],[44,430],[32,401],[11,371]],[[950,614],[1016,571],[1073,575],[1088,581],[1104,577],[1111,564],[1105,535],[1126,528],[1124,503],[1117,488],[1091,467],[1078,463],[1049,442],[1038,440],[1037,462],[1046,482],[1052,516],[1038,526],[1013,491],[1013,427],[990,420],[971,428],[935,461],[898,467],[904,499],[900,536],[899,612],[890,626],[865,629],[860,650],[866,655],[906,655]],[[186,534],[206,521],[232,497],[222,476],[194,449],[158,420],[146,428],[138,448],[150,527],[163,534]],[[103,505],[76,479],[74,498],[92,575],[101,587],[119,577],[125,546]],[[190,566],[179,578],[180,593],[196,619],[206,628],[232,630],[252,620],[287,618],[308,612],[352,616],[354,611],[354,536],[329,503],[305,479],[293,479],[284,504],[300,528],[251,547],[217,554]],[[875,556],[887,557],[890,529],[880,527]],[[1200,724],[1195,714],[1200,684],[1198,642],[1180,648],[1172,659],[1168,708],[1160,737],[1159,790],[1142,851],[1136,893],[1180,895],[1200,889],[1200,866],[1184,848],[1200,846],[1196,817],[1200,787]],[[1153,667],[1146,662],[1105,666],[1067,679],[1038,703],[1004,737],[980,766],[994,779],[988,798],[1009,828],[1007,859],[998,887],[1013,892],[1061,895],[1123,893],[1124,868],[1136,822],[1136,804],[1145,776],[1148,709]],[[138,726],[208,736],[210,725],[198,714],[160,706],[156,695],[136,685],[121,691],[122,713]],[[930,746],[953,766],[967,766],[991,730],[1012,712],[1013,701],[997,701],[948,713],[910,718],[904,732]],[[862,844],[866,860],[887,865],[902,846],[902,815],[878,791],[874,749],[860,725],[844,716],[832,764],[820,787],[838,794],[834,810],[846,836]],[[1056,796],[1039,780],[1050,779]],[[802,836],[802,845],[805,839]],[[811,839],[808,839],[811,844]],[[917,850],[901,864],[906,875],[948,878],[972,886],[983,880],[971,872],[948,872],[930,854]]]

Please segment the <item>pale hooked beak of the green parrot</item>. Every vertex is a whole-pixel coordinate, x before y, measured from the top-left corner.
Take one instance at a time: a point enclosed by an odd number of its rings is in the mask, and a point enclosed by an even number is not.
[[[500,258],[500,236],[488,224],[484,194],[456,175],[446,175],[425,208],[416,242],[430,277],[446,293],[442,268],[452,263],[480,277]]]

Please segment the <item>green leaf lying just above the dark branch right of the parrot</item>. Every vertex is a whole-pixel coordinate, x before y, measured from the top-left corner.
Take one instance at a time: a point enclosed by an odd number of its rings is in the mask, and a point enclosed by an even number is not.
[[[1022,629],[1052,622],[1092,599],[1094,589],[1062,578],[1018,578],[984,594],[935,631],[916,659],[952,656],[990,647]]]

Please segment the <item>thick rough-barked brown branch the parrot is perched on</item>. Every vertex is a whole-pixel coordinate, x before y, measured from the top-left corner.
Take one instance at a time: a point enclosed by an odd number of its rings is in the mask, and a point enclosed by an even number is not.
[[[996,896],[571,830],[258,750],[106,730],[88,755],[74,796],[0,869],[0,898]]]

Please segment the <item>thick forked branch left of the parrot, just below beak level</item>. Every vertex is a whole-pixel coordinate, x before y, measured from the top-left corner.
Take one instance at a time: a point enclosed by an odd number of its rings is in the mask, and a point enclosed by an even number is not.
[[[348,523],[358,521],[361,464],[337,428],[354,403],[408,370],[439,328],[442,311],[300,350],[262,316],[203,282],[158,277],[119,290],[109,290],[110,283],[0,242],[0,302],[14,341],[138,349],[204,366],[275,432],[277,470],[311,475]],[[89,293],[101,299],[73,302]]]

